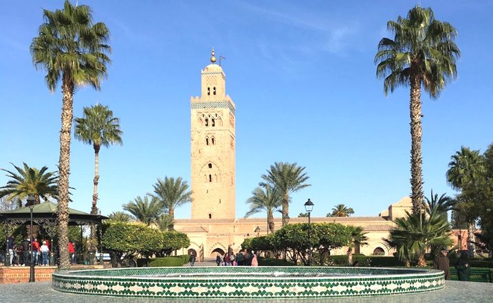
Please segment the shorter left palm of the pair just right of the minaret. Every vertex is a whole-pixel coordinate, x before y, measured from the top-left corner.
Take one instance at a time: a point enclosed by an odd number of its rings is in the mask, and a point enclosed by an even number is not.
[[[250,204],[250,210],[245,214],[245,218],[258,212],[266,212],[267,228],[271,234],[274,233],[274,212],[278,211],[283,203],[278,190],[270,184],[258,186],[253,190],[252,197],[248,198],[246,203]]]

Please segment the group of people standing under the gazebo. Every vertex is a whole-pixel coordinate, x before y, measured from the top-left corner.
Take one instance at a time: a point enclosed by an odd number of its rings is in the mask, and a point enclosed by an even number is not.
[[[34,265],[48,266],[50,260],[50,241],[43,240],[41,245],[37,238],[25,239],[21,243],[15,243],[14,236],[8,237],[8,252],[10,254],[10,266],[29,266],[31,265],[31,245],[32,262]]]

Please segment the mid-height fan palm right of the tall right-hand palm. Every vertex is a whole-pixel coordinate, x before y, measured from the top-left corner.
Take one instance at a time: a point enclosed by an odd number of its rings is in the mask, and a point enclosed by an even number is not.
[[[456,210],[468,221],[468,249],[474,253],[474,230],[476,221],[476,202],[481,198],[479,194],[479,183],[485,175],[484,158],[479,150],[470,150],[461,146],[451,157],[446,173],[447,182],[454,190],[461,190],[457,197]]]

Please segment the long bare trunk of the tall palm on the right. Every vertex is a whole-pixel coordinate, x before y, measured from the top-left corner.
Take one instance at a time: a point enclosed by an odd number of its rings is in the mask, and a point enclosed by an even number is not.
[[[413,67],[412,67],[413,68]],[[417,72],[411,72],[410,78],[410,172],[411,172],[411,200],[413,201],[413,214],[419,214],[423,205],[423,170],[421,165],[421,135],[423,128],[421,125],[421,78]]]

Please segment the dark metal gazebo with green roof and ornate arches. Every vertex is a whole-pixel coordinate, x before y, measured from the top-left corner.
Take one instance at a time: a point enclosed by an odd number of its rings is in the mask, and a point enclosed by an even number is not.
[[[50,265],[55,265],[55,256],[53,246],[53,238],[56,235],[58,205],[50,201],[32,205],[32,224],[42,227],[50,236]],[[107,216],[100,214],[87,214],[69,208],[69,226],[84,226],[84,225],[101,225],[102,220],[107,219]],[[0,223],[6,227],[7,242],[6,242],[6,265],[10,262],[8,250],[8,236],[14,232],[19,225],[30,225],[31,223],[31,207],[25,206],[10,210],[8,212],[0,212]],[[101,230],[101,229],[100,229]],[[82,229],[80,237],[82,238]],[[100,237],[101,238],[101,237]],[[82,243],[82,239],[81,239]],[[101,245],[101,243],[99,243]],[[102,251],[102,249],[100,249]],[[91,259],[91,258],[90,258]],[[102,260],[102,258],[100,258]]]

